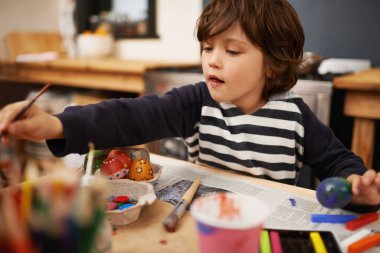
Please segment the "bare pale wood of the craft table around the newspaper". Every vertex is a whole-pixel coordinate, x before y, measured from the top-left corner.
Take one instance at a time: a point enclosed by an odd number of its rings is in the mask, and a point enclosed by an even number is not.
[[[184,161],[172,158],[166,158],[159,155],[151,155],[152,162],[162,164],[162,161],[169,161],[178,166]],[[200,171],[207,170],[219,175],[227,175],[229,178],[235,178],[244,181],[254,182],[255,184],[272,187],[274,189],[286,190],[299,196],[310,197],[315,199],[315,191],[291,185],[276,183],[269,180],[233,174],[220,169],[194,165]],[[198,234],[194,219],[190,213],[186,212],[178,223],[177,230],[174,233],[165,231],[162,221],[172,211],[173,205],[156,200],[153,205],[143,208],[137,221],[123,227],[118,227],[116,235],[113,236],[112,252],[157,252],[157,253],[197,253]]]

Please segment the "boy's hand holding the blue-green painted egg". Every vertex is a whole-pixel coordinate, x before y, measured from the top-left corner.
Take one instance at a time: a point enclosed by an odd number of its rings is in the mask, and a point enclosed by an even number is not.
[[[347,181],[352,185],[352,204],[380,204],[380,172],[369,169],[362,176],[350,175]]]

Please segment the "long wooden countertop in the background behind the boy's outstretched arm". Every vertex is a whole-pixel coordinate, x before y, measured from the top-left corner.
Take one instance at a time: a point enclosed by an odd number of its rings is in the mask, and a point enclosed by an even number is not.
[[[115,58],[66,59],[47,62],[17,63],[0,60],[0,80],[25,83],[145,93],[145,73],[159,68],[188,68],[199,66],[189,62],[126,61]]]

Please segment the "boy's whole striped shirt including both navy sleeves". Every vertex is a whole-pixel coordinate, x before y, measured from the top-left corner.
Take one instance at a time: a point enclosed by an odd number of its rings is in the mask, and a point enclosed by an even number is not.
[[[204,82],[163,96],[111,99],[68,107],[57,115],[64,140],[47,141],[56,156],[143,144],[163,138],[186,140],[189,160],[294,184],[303,164],[319,179],[363,174],[363,162],[321,123],[300,97],[277,94],[253,114],[214,101]]]

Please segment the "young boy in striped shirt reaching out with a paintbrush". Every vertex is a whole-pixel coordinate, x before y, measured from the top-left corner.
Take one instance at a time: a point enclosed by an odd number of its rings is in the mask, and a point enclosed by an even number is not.
[[[0,111],[8,136],[47,140],[56,156],[183,137],[189,160],[294,184],[303,164],[320,180],[352,183],[352,203],[380,203],[380,175],[366,170],[311,112],[288,93],[297,82],[304,33],[286,0],[215,0],[197,23],[205,82],[162,97],[114,99],[51,116],[24,102]],[[7,138],[3,138],[6,141]]]

